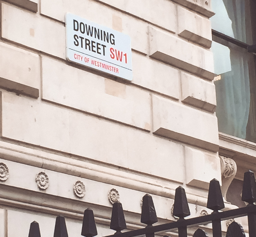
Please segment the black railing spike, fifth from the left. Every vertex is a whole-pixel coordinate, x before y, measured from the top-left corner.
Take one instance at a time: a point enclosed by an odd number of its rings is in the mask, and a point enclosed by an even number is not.
[[[142,212],[140,222],[147,225],[152,225],[158,222],[154,202],[149,194],[144,195],[142,199]]]

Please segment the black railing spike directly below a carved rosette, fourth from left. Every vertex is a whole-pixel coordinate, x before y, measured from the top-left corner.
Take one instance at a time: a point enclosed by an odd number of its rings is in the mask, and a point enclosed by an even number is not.
[[[112,207],[110,229],[116,230],[116,233],[126,229],[123,206],[120,202],[115,202]]]

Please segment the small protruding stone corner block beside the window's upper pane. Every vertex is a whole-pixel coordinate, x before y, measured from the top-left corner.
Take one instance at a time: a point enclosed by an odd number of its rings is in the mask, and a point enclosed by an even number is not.
[[[177,7],[177,12],[178,35],[206,48],[210,48],[212,41],[210,20],[180,6]]]

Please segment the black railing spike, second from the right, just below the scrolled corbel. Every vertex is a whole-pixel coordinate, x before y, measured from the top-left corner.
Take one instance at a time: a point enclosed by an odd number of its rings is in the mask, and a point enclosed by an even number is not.
[[[209,191],[208,191],[208,200],[207,208],[218,211],[225,207],[223,202],[223,197],[221,193],[221,186],[217,179],[212,179],[210,181]]]

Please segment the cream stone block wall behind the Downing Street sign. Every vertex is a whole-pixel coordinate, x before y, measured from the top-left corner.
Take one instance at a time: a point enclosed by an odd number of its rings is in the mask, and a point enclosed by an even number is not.
[[[27,236],[34,220],[41,236],[50,236],[59,214],[68,232],[80,236],[87,207],[98,236],[112,234],[111,189],[120,194],[128,229],[143,226],[145,193],[153,196],[159,222],[175,221],[180,185],[191,216],[210,213],[209,182],[221,182],[210,1],[0,4],[0,163],[9,170],[0,181],[0,237]],[[67,12],[131,37],[131,82],[66,60]],[[39,172],[48,175],[46,190],[35,182]],[[82,198],[73,190],[78,180]]]

